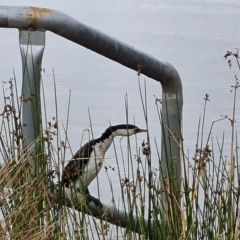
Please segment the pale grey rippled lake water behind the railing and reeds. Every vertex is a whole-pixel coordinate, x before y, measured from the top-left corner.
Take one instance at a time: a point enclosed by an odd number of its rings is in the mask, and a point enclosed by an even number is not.
[[[206,129],[221,115],[232,114],[234,75],[238,74],[236,63],[229,70],[223,55],[227,50],[240,47],[238,27],[240,26],[239,0],[0,0],[0,5],[26,5],[46,7],[62,11],[79,22],[98,29],[134,48],[171,63],[179,72],[184,91],[184,147],[190,156],[194,153],[198,120],[203,113],[203,98],[210,95],[207,106]],[[53,68],[57,83],[59,126],[66,125],[69,91],[71,106],[68,138],[76,151],[80,145],[83,130],[89,127],[90,109],[94,136],[98,137],[111,124],[126,122],[125,98],[128,96],[130,122],[145,127],[145,120],[138,90],[136,72],[112,62],[63,39],[51,32],[46,33],[46,48],[42,73],[46,97],[47,115],[55,116]],[[0,82],[16,73],[21,86],[21,58],[18,47],[18,30],[0,29]],[[152,79],[141,76],[147,83],[148,121],[152,144],[160,145],[160,127],[154,95],[161,98],[161,86]],[[239,102],[239,100],[237,100]],[[3,99],[0,97],[0,104]],[[237,106],[236,126],[239,127],[240,107]],[[226,131],[226,155],[230,143],[230,122],[216,124],[213,137],[220,137]],[[63,131],[62,131],[63,133]],[[139,145],[146,140],[138,135]],[[86,141],[87,139],[85,139]],[[133,138],[134,140],[134,138]],[[124,151],[123,143],[123,151]],[[135,151],[135,149],[133,149]],[[156,150],[153,148],[153,155]],[[230,151],[230,150],[229,150]],[[120,147],[117,145],[120,156]],[[134,154],[134,152],[133,152]],[[67,151],[66,159],[71,157]],[[114,151],[111,148],[107,162],[116,167]],[[152,162],[157,167],[158,161]],[[120,194],[118,175],[109,172],[116,196]],[[99,175],[103,186],[100,196],[108,203],[110,193],[104,170]],[[96,183],[90,191],[97,193]]]

